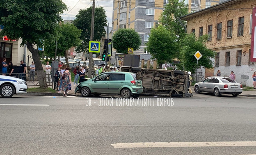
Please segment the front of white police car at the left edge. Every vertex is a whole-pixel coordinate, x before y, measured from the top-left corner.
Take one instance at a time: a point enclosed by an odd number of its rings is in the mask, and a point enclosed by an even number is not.
[[[11,98],[14,93],[27,93],[27,83],[18,78],[0,75],[0,95]]]

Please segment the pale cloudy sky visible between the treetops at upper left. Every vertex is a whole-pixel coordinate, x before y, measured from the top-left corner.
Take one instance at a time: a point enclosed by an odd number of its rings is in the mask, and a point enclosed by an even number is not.
[[[74,20],[80,9],[87,9],[92,6],[92,0],[62,0],[68,7],[61,15],[63,20]],[[113,0],[95,0],[95,7],[103,7],[106,11],[107,22],[112,25]]]

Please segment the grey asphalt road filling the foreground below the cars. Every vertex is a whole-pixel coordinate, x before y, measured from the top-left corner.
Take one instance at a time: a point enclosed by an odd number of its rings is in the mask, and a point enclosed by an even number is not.
[[[140,96],[139,100],[129,102],[109,96],[14,96],[0,98],[0,154],[256,154],[256,146],[114,148],[111,145],[256,141],[255,120],[255,98],[245,96],[194,94],[191,98],[173,98],[172,102],[171,98],[156,96]]]

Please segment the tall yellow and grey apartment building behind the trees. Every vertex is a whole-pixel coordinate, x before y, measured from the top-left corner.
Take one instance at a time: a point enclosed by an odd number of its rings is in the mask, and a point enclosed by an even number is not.
[[[185,0],[184,3],[188,5],[189,11],[197,11],[218,2],[219,0]],[[151,55],[145,50],[145,43],[151,28],[158,25],[158,18],[168,3],[168,0],[114,0],[112,34],[121,28],[134,29],[142,39],[140,49],[134,54],[140,55],[140,59],[150,59]],[[112,55],[115,55],[115,50]]]

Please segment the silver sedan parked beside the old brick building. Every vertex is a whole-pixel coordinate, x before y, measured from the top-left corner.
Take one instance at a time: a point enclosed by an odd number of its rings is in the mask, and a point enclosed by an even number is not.
[[[236,97],[242,93],[242,84],[235,82],[231,78],[212,76],[194,84],[194,91],[196,93],[201,93],[202,91],[214,93],[215,96],[232,94]]]

